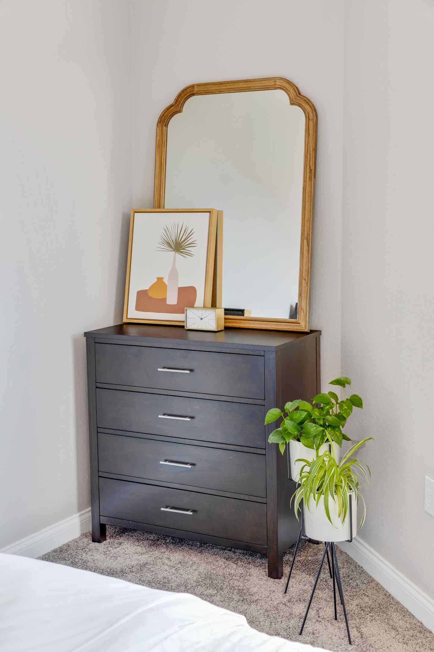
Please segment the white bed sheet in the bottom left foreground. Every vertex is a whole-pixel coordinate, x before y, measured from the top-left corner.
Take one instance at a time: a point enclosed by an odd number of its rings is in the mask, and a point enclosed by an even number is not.
[[[59,564],[0,554],[1,652],[319,652],[244,616]]]

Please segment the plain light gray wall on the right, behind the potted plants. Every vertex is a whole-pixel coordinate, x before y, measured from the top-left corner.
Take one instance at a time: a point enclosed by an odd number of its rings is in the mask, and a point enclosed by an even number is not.
[[[345,5],[342,370],[375,437],[360,536],[434,597],[434,5]],[[325,331],[329,329],[323,322]]]

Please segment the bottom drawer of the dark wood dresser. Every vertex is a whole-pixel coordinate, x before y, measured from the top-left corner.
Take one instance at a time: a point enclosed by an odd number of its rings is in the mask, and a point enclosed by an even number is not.
[[[181,513],[166,510],[178,509]],[[191,512],[191,513],[189,513]],[[265,503],[100,478],[100,513],[148,525],[267,544]]]

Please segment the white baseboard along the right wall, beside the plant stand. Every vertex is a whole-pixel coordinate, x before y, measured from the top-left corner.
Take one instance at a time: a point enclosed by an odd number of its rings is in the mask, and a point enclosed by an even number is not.
[[[339,544],[350,557],[357,561],[374,580],[401,602],[406,609],[434,632],[434,600],[405,577],[398,569],[381,557],[360,537],[352,543]]]

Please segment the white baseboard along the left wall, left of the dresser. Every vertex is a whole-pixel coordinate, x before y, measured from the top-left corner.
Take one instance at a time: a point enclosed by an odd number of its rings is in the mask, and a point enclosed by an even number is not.
[[[64,518],[53,526],[45,527],[29,537],[24,537],[20,541],[1,548],[0,552],[36,559],[72,539],[76,539],[90,529],[90,507],[88,507],[78,514]]]

